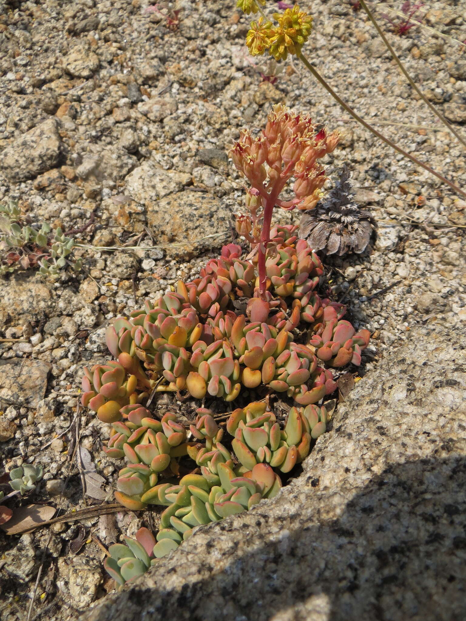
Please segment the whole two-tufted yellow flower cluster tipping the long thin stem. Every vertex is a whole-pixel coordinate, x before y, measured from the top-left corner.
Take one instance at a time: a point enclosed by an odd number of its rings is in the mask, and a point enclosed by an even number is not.
[[[245,0],[246,1],[246,0]],[[295,4],[293,9],[283,13],[274,13],[278,25],[264,22],[252,22],[246,37],[246,45],[253,56],[262,55],[268,50],[275,60],[285,60],[288,53],[301,55],[301,48],[309,38],[313,27],[313,18],[304,11],[299,11]]]

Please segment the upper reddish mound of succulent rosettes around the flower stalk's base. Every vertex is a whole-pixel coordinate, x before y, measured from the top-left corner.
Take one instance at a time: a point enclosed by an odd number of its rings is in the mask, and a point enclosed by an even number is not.
[[[263,297],[254,258],[241,259],[241,248],[230,244],[201,279],[180,281],[176,292],[118,317],[106,332],[116,360],[84,369],[83,406],[114,423],[122,408],[141,404],[153,390],[234,401],[246,389],[269,389],[300,405],[332,392],[330,368],[360,365],[369,333],[356,332],[342,320],[345,306],[316,292],[324,268],[296,229],[272,229]],[[235,265],[247,279],[236,278]],[[236,299],[245,300],[243,312]],[[300,322],[308,326],[306,343],[295,342]]]

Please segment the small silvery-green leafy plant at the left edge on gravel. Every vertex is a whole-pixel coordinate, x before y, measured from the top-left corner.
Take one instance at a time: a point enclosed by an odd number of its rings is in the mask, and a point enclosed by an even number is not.
[[[26,224],[17,202],[0,205],[0,250],[4,252],[0,275],[39,266],[42,276],[57,280],[63,268],[81,269],[81,260],[72,255],[74,247],[75,240],[66,237],[60,227],[52,231],[47,223],[40,229]]]

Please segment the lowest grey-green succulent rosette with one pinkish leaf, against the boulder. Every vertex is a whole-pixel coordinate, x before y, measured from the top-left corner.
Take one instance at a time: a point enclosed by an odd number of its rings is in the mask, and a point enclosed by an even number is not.
[[[104,568],[119,587],[142,576],[156,558],[153,554],[155,538],[148,528],[139,528],[135,538],[123,537],[123,543],[114,543],[109,547],[110,556],[104,560]]]

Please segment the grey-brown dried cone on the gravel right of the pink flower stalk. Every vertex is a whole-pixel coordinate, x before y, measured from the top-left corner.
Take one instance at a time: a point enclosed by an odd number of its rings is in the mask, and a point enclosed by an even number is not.
[[[361,253],[367,247],[372,233],[372,218],[353,202],[350,170],[344,166],[340,179],[327,199],[301,218],[299,237],[307,239],[314,250],[327,255],[346,252]]]

